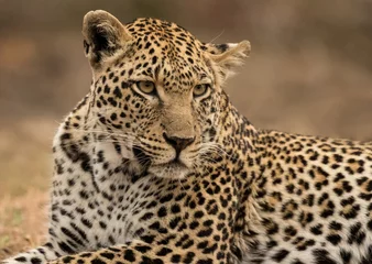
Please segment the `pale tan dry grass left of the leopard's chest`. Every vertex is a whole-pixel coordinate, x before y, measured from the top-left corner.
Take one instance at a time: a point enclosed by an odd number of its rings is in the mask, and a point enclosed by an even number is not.
[[[56,122],[28,118],[0,129],[0,260],[41,244]]]

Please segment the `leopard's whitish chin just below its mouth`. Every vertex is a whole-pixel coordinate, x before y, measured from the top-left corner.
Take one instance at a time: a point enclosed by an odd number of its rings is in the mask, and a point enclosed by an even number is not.
[[[151,165],[147,172],[160,178],[182,179],[190,173],[190,169],[180,162],[171,162]]]

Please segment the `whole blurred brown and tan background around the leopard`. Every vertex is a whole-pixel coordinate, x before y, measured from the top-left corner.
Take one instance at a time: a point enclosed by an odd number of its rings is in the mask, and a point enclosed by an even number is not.
[[[89,89],[80,30],[90,10],[124,23],[173,21],[204,42],[249,40],[251,56],[226,90],[256,128],[372,140],[372,0],[0,0],[0,7],[4,254],[19,233],[28,230],[33,244],[44,230],[37,208],[50,185],[53,134]]]

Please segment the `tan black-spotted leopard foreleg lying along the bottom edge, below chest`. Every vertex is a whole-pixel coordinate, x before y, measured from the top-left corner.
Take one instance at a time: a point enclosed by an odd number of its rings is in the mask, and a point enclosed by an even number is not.
[[[108,264],[108,263],[223,263],[217,260],[214,254],[205,254],[197,250],[184,250],[182,248],[165,244],[145,243],[132,241],[128,244],[114,245],[100,249],[94,252],[81,252],[74,255],[66,255],[47,264]],[[226,262],[225,262],[226,263]]]

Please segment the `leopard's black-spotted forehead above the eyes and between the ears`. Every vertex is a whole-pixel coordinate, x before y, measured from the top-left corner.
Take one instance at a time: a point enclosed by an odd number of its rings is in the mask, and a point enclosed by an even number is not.
[[[125,24],[135,51],[133,75],[147,76],[165,90],[186,91],[203,79],[212,79],[205,45],[176,23],[136,19]],[[118,62],[120,63],[120,62]]]

